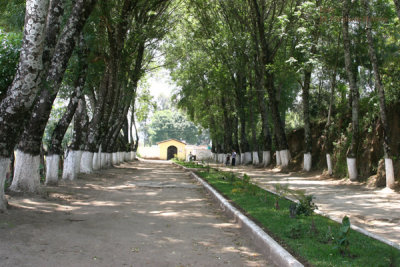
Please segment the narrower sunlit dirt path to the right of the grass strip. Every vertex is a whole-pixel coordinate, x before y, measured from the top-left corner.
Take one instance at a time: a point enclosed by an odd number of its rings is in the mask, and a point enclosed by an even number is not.
[[[277,169],[252,166],[220,167],[246,173],[255,183],[274,190],[274,184],[288,184],[314,195],[318,209],[337,218],[350,217],[352,224],[400,245],[400,194],[369,189],[348,180],[323,178],[320,173],[279,173]]]

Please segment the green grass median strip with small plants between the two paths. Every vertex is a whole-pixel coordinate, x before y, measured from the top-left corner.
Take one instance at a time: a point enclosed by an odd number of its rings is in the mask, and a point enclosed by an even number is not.
[[[232,173],[211,170],[198,174],[303,263],[312,266],[400,266],[399,250],[354,230],[349,232],[347,255],[341,255],[335,248],[341,224],[317,214],[290,218],[291,201],[280,198],[280,209],[276,210],[274,194],[246,184]],[[310,230],[312,218],[317,232]]]

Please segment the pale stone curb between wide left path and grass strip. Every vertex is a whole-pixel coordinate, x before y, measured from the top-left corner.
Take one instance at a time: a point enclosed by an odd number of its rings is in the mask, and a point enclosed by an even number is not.
[[[186,171],[190,172],[191,177],[195,178],[200,182],[203,187],[211,194],[213,199],[217,201],[223,211],[241,226],[250,238],[253,239],[255,245],[261,250],[264,256],[271,260],[277,266],[288,266],[288,267],[301,267],[304,266],[296,258],[294,258],[287,250],[279,245],[272,237],[264,232],[257,224],[246,217],[238,209],[233,207],[221,194],[219,194],[214,188],[212,188],[202,178],[197,176],[190,169],[173,163]]]

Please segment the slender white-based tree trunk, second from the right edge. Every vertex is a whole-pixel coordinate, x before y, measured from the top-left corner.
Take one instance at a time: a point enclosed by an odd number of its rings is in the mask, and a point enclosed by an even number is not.
[[[357,154],[358,154],[358,88],[356,77],[353,72],[353,60],[351,53],[351,43],[349,37],[349,20],[350,20],[350,0],[343,0],[343,46],[344,46],[344,60],[346,65],[347,78],[349,80],[350,95],[351,95],[351,110],[352,110],[352,138],[351,145],[347,152],[347,163],[349,178],[351,181],[356,181],[358,178],[357,172]]]

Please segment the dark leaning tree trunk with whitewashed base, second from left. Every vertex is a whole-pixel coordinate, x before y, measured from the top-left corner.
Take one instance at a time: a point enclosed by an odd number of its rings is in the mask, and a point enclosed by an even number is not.
[[[94,8],[95,2],[96,0],[78,1],[73,7],[70,18],[64,27],[54,50],[50,68],[46,74],[46,80],[41,84],[41,87],[43,87],[42,92],[39,99],[36,101],[32,116],[25,126],[24,133],[20,139],[18,145],[20,153],[18,155],[22,157],[21,159],[28,156],[36,157],[40,152],[42,136],[51,113],[53,102],[61,86],[69,58],[74,50],[75,39],[79,36],[83,26],[85,25],[87,18]],[[18,158],[16,160],[18,160]],[[19,164],[17,165],[20,167],[24,166]],[[29,190],[34,190],[30,192],[35,192],[37,190],[37,188],[34,187],[24,186],[24,183],[31,184],[28,180],[39,179],[39,177],[35,175],[36,171],[34,171],[36,166],[27,165],[27,167],[29,169],[25,171],[17,170],[16,168],[16,175],[14,176],[13,184],[10,187],[11,190],[21,191],[28,188]],[[33,171],[32,174],[30,174],[31,170]],[[34,184],[37,183],[35,182]]]

